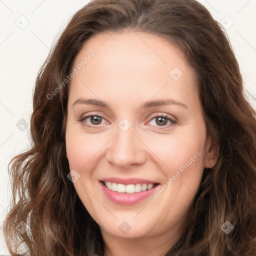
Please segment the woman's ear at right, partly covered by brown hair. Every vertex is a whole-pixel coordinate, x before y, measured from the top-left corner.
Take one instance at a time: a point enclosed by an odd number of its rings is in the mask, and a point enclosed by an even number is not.
[[[204,167],[212,168],[217,162],[218,152],[219,152],[218,145],[212,137],[207,136],[204,148],[205,148]]]

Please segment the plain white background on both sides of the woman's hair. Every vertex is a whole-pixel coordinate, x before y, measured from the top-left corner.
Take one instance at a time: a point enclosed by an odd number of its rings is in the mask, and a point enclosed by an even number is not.
[[[0,0],[0,226],[11,198],[7,164],[29,146],[29,126],[21,131],[16,123],[22,118],[29,123],[36,74],[69,18],[86,2]],[[249,100],[256,106],[256,1],[199,2],[226,27]],[[8,254],[1,229],[0,254]]]

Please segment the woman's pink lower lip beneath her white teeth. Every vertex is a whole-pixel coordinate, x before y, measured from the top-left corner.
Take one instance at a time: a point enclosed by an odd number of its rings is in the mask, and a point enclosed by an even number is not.
[[[143,200],[146,197],[149,197],[154,190],[156,189],[156,186],[152,187],[151,189],[141,191],[141,192],[135,192],[135,193],[118,193],[116,191],[112,191],[108,189],[101,181],[99,181],[105,195],[110,199],[111,201],[122,204],[122,205],[132,205],[135,203],[138,203],[139,201]]]

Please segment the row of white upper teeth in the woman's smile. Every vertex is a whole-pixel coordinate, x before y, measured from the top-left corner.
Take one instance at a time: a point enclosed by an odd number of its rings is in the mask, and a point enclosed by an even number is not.
[[[104,182],[105,186],[109,188],[112,191],[117,191],[118,193],[134,193],[134,192],[141,192],[145,191],[147,189],[151,189],[153,187],[153,184],[120,184],[115,182],[106,181]]]

